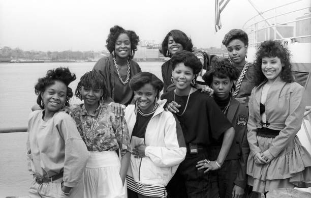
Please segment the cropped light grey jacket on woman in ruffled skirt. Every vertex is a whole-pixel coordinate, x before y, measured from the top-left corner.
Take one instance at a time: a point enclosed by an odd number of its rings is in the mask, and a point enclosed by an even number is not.
[[[256,153],[264,152],[258,147],[256,136],[257,128],[262,127],[260,125],[260,100],[265,82],[252,90],[250,101],[248,101],[250,114],[247,122],[247,140],[253,157]],[[280,130],[268,149],[274,157],[278,156],[300,130],[305,109],[304,98],[304,88],[297,82],[284,82],[278,77],[270,87],[265,104],[267,121],[270,123],[267,128]]]

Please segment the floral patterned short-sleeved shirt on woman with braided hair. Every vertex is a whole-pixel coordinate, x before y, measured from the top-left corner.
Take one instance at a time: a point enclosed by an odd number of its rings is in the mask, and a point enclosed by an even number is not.
[[[91,138],[94,137],[93,146],[87,146],[88,151],[115,151],[120,148],[121,155],[127,151],[131,152],[128,125],[123,117],[117,118],[114,115],[111,106],[101,104],[95,110],[95,114],[88,114],[84,104],[75,104],[70,108],[83,141],[85,142],[84,136],[88,142],[91,142]],[[93,136],[91,129],[96,123],[101,108],[103,109]]]

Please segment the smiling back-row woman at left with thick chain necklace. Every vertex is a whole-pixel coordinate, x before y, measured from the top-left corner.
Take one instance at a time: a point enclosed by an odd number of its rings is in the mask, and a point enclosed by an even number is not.
[[[139,65],[132,61],[138,42],[134,31],[124,30],[118,25],[111,27],[106,40],[110,56],[101,58],[94,66],[94,70],[104,77],[108,96],[116,103],[134,103],[129,82],[132,76],[141,72]]]

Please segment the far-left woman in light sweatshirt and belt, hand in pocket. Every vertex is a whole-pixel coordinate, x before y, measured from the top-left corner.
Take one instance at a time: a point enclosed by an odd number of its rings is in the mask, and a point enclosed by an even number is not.
[[[75,121],[60,110],[69,105],[76,79],[68,68],[49,70],[35,86],[41,110],[28,119],[28,169],[34,180],[30,197],[82,197],[80,185],[88,152]]]

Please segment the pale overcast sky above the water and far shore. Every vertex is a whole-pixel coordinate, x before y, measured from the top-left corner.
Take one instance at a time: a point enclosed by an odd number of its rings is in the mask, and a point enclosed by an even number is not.
[[[290,0],[252,0],[261,11]],[[231,0],[215,33],[214,0],[0,0],[0,48],[87,51],[106,49],[113,25],[133,30],[140,40],[161,43],[173,29],[198,48],[220,47],[231,29],[256,15],[247,0]]]

